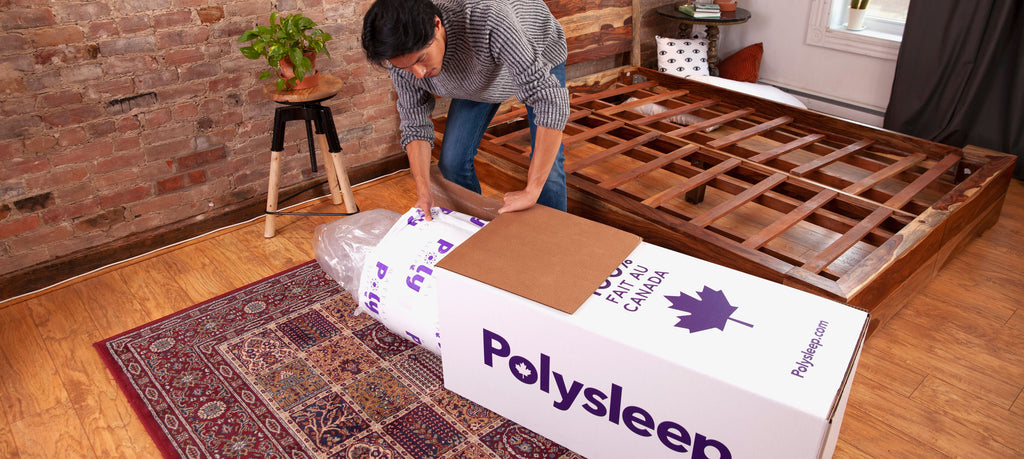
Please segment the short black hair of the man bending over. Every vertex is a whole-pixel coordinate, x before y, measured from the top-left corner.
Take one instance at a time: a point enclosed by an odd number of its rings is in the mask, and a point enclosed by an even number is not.
[[[385,67],[391,57],[426,48],[434,39],[434,16],[441,11],[430,0],[377,0],[362,16],[367,59]]]

